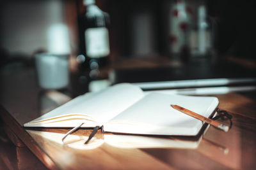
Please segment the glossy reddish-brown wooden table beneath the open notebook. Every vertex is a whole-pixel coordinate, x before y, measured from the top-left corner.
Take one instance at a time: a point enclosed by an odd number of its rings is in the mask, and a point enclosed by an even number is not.
[[[233,116],[233,127],[227,133],[209,127],[198,148],[117,148],[102,143],[94,149],[77,150],[22,127],[25,122],[40,116],[42,93],[35,80],[35,72],[31,68],[23,68],[22,71],[8,69],[1,73],[0,117],[6,133],[18,149],[1,142],[0,166],[5,165],[9,169],[256,168],[255,91],[215,95],[220,100],[220,108]],[[90,131],[80,130],[78,133],[88,136]],[[99,138],[100,135],[98,132]],[[10,157],[15,157],[16,162]]]

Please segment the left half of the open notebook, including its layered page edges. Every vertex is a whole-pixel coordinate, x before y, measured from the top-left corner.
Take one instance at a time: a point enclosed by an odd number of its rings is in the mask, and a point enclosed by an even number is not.
[[[144,96],[134,85],[122,83],[72,101],[24,124],[25,127],[95,127],[108,122]]]

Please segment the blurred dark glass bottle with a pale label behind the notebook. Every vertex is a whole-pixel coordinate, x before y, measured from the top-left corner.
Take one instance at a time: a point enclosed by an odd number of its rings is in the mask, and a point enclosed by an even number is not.
[[[80,50],[77,60],[90,80],[99,78],[101,67],[109,62],[109,15],[95,5],[95,0],[84,0],[86,13],[79,16]]]

